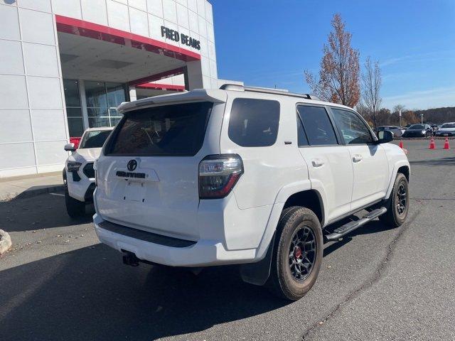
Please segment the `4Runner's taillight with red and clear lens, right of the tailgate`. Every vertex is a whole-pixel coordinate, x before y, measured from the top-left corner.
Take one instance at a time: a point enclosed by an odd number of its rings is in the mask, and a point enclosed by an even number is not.
[[[206,156],[199,163],[200,199],[225,197],[230,193],[242,173],[242,158],[237,154]]]

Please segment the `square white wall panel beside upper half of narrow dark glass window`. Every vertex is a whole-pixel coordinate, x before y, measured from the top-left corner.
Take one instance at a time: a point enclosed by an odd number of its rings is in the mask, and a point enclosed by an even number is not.
[[[34,109],[63,109],[58,78],[27,77],[30,107]]]

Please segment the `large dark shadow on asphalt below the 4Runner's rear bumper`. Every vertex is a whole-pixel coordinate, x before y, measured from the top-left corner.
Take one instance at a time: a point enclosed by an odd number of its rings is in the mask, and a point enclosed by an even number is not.
[[[124,266],[104,246],[0,272],[1,340],[155,340],[267,313],[287,303],[243,283],[235,266],[198,276]]]

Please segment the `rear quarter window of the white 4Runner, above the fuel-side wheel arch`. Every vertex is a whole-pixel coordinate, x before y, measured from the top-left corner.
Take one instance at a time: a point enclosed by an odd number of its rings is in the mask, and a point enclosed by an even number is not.
[[[242,147],[272,146],[277,141],[279,102],[236,98],[232,102],[228,135]]]

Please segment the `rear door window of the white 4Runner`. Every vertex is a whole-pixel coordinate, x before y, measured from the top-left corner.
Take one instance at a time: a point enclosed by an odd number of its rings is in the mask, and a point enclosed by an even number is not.
[[[323,107],[301,106],[297,108],[310,146],[338,144],[335,131],[326,109]]]

